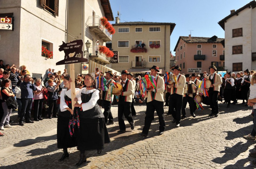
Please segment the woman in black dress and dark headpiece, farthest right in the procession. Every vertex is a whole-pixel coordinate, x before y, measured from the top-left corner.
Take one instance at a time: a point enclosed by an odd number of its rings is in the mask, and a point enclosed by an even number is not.
[[[243,104],[245,103],[244,100],[246,100],[246,104],[245,106],[248,106],[247,105],[247,93],[250,89],[250,85],[251,85],[251,82],[250,82],[250,79],[252,78],[252,75],[251,75],[251,72],[246,69],[244,72],[244,76],[243,76],[243,80],[241,82],[241,93],[242,93],[242,99],[243,99]]]

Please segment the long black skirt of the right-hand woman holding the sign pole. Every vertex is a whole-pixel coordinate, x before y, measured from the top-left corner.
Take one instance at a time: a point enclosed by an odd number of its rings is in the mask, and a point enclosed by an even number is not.
[[[79,120],[80,127],[75,128],[78,150],[103,149],[110,142],[104,118]]]

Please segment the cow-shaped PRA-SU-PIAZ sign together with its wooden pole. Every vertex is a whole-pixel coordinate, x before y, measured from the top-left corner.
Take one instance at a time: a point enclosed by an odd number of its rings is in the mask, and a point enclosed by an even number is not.
[[[59,47],[59,51],[64,51],[64,59],[61,61],[58,61],[56,65],[65,65],[69,64],[69,72],[70,77],[72,79],[71,82],[71,101],[72,101],[72,110],[74,110],[74,98],[76,96],[76,89],[75,89],[75,65],[74,63],[82,63],[82,62],[88,62],[88,59],[83,58],[83,45],[84,42],[82,39],[71,41],[68,43],[65,43],[62,41],[62,45]],[[75,53],[75,54],[74,54]],[[74,54],[74,56],[70,57],[70,54]]]

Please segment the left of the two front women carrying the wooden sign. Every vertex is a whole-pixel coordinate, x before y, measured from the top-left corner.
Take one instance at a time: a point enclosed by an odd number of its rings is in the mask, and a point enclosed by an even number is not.
[[[60,93],[60,111],[58,112],[57,123],[57,146],[58,148],[63,148],[63,154],[59,161],[63,161],[66,157],[69,157],[67,148],[77,146],[74,136],[70,136],[68,127],[70,115],[73,114],[71,103],[71,85],[69,80],[69,76],[64,77],[63,83],[67,89],[62,89]],[[78,89],[76,89],[76,91],[79,93]]]

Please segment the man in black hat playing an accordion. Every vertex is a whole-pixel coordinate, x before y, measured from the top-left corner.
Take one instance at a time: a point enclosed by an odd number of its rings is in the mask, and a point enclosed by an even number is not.
[[[194,73],[193,73],[194,74]],[[185,78],[186,78],[186,84],[194,84],[193,81],[190,81],[190,75],[189,74],[185,74]],[[195,90],[198,90],[198,87],[197,86],[193,86],[193,88]],[[184,88],[185,90],[186,88]],[[185,93],[185,91],[184,91]],[[196,96],[196,95],[195,95]],[[183,94],[183,99],[182,99],[182,108],[181,108],[181,119],[184,119],[186,118],[186,105],[187,103],[189,104],[189,110],[190,110],[190,114],[193,116],[193,117],[196,117],[196,115],[194,114],[194,95],[193,94]]]

